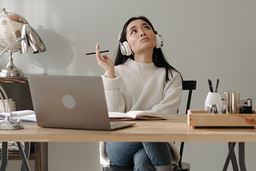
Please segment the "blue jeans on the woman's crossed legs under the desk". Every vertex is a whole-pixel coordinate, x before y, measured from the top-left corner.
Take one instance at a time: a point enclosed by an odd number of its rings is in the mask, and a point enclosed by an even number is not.
[[[134,171],[172,171],[166,142],[106,142],[106,153],[114,165],[134,165]]]

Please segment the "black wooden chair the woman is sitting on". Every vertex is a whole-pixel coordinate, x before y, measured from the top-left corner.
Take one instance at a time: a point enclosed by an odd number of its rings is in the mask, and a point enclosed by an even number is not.
[[[182,82],[182,89],[188,90],[188,97],[186,101],[186,113],[187,110],[190,109],[190,103],[192,98],[192,91],[197,88],[197,81],[183,81]],[[184,149],[184,142],[181,142],[180,145],[180,161],[178,161],[178,164],[174,165],[174,171],[190,171],[190,164],[186,162],[182,162],[182,154]],[[133,171],[134,167],[121,167],[118,165],[108,164],[103,166],[103,171]]]

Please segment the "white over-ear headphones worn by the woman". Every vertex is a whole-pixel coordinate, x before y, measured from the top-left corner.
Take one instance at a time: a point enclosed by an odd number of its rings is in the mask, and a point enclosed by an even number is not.
[[[161,46],[163,46],[163,39],[161,35],[158,35],[158,32],[155,30],[154,31],[155,35],[155,40],[156,40],[156,48],[159,49]],[[130,56],[132,54],[132,51],[130,49],[130,45],[127,41],[121,42],[121,35],[122,35],[122,30],[118,34],[118,42],[120,44],[120,51],[122,55]]]

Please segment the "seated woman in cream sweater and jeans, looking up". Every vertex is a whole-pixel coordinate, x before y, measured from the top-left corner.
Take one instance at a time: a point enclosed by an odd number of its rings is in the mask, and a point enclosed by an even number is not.
[[[145,110],[177,113],[182,95],[182,77],[162,54],[162,38],[145,17],[130,18],[119,36],[115,62],[101,57],[96,46],[109,111],[126,113]],[[156,140],[157,141],[157,140]],[[101,156],[114,165],[134,170],[172,170],[179,160],[178,150],[170,142],[101,142]]]

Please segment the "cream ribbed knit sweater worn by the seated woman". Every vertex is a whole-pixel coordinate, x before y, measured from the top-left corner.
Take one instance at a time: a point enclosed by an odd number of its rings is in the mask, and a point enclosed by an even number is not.
[[[106,104],[110,112],[126,113],[130,110],[146,110],[159,114],[177,113],[182,96],[182,78],[180,74],[169,73],[166,82],[166,69],[154,66],[154,63],[139,63],[129,60],[114,67],[116,78],[102,76],[106,93]],[[172,163],[179,160],[178,149],[169,143],[172,151]],[[100,143],[100,154],[110,162],[105,151],[105,142]]]

